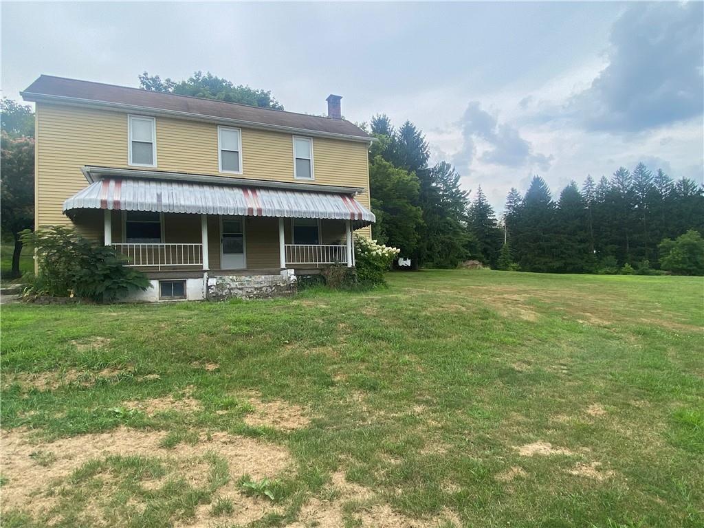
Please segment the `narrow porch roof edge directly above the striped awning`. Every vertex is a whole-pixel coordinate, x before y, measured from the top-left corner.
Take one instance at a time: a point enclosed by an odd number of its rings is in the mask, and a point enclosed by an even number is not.
[[[235,187],[268,187],[270,189],[289,189],[291,191],[312,191],[351,195],[364,194],[365,191],[364,187],[343,187],[340,185],[279,182],[277,180],[253,180],[252,178],[192,174],[189,172],[123,169],[113,167],[96,167],[94,165],[84,165],[81,168],[81,172],[83,172],[84,177],[89,183],[102,180],[106,177],[119,176],[125,178],[144,178],[145,180],[177,180],[218,185],[234,185]]]

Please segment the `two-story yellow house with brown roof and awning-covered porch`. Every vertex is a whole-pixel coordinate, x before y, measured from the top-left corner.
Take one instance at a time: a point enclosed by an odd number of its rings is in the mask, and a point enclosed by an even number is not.
[[[42,75],[37,227],[74,225],[144,270],[143,300],[286,288],[354,265],[370,236],[372,138],[341,118]]]

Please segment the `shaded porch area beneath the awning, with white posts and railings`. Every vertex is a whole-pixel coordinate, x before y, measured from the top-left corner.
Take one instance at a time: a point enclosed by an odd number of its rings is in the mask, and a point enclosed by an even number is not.
[[[351,220],[103,211],[103,242],[129,265],[181,270],[280,272],[354,265]]]

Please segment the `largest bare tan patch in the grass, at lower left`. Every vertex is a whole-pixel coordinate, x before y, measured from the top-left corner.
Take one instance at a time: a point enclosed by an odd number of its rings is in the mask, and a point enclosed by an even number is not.
[[[196,444],[179,444],[172,449],[161,447],[167,432],[146,432],[120,427],[111,432],[83,434],[51,442],[37,443],[27,429],[2,432],[2,460],[0,471],[6,482],[2,486],[4,510],[46,511],[56,504],[47,497],[52,482],[68,477],[73,470],[90,460],[103,460],[109,455],[141,455],[175,460],[177,467],[187,475],[187,481],[202,484],[208,480],[210,466],[199,463],[207,453],[214,453],[227,461],[230,478],[237,480],[248,473],[253,479],[275,477],[289,466],[289,452],[282,447],[244,436],[225,432],[201,434]],[[37,451],[51,453],[51,463],[42,465]],[[203,474],[203,473],[206,474]],[[159,482],[150,482],[156,488]],[[46,503],[41,501],[47,498]]]

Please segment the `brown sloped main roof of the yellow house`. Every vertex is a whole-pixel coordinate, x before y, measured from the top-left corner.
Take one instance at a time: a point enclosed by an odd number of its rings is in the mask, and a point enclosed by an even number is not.
[[[139,106],[161,111],[205,115],[212,118],[225,118],[242,122],[256,123],[270,127],[287,127],[309,130],[322,134],[341,134],[353,137],[370,137],[357,125],[344,119],[331,119],[294,112],[257,108],[239,103],[227,103],[215,99],[201,99],[184,95],[149,92],[139,88],[115,86],[102,82],[81,81],[40,75],[32,82],[22,96],[27,101],[37,101],[46,97],[67,97],[93,103],[111,103]],[[244,124],[244,123],[243,123]]]

